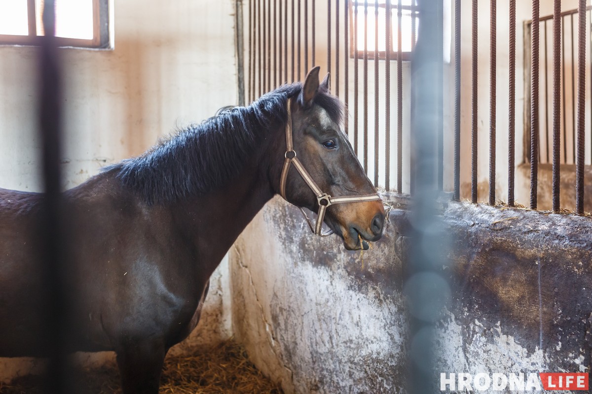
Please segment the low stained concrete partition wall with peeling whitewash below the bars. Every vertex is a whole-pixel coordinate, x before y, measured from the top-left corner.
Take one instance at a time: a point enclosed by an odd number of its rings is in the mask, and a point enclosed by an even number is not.
[[[453,297],[437,325],[435,379],[588,372],[590,219],[465,203],[441,218]],[[279,198],[249,224],[230,255],[233,328],[285,392],[404,392],[410,226],[406,208],[392,210],[362,256],[311,235]]]

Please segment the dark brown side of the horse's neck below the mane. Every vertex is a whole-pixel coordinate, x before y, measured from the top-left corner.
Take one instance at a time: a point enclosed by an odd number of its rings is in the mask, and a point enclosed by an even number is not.
[[[239,176],[217,190],[192,197],[181,204],[173,204],[176,222],[192,239],[197,258],[207,269],[214,271],[234,241],[276,194],[275,167],[281,167],[283,151],[279,149],[281,131],[270,131],[247,160]],[[283,141],[283,134],[279,136]],[[285,144],[285,142],[284,142]],[[282,148],[283,149],[283,148]],[[277,175],[279,183],[279,175]]]

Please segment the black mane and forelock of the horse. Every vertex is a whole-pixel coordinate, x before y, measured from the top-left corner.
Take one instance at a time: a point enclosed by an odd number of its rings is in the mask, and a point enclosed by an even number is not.
[[[163,139],[143,155],[107,170],[117,172],[121,183],[148,204],[206,193],[239,174],[261,136],[274,123],[286,122],[287,99],[298,96],[301,89],[301,83],[283,85],[249,106],[222,109],[201,124]],[[319,93],[315,103],[333,121],[342,122],[343,105],[337,97]]]

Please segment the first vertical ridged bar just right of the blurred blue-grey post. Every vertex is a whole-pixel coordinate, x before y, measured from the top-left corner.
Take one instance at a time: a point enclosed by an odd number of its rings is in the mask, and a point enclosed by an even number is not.
[[[510,1],[515,1],[515,0],[510,0]],[[510,24],[511,24],[511,21],[510,21]],[[511,28],[511,26],[510,26],[510,28]],[[454,196],[453,196],[453,198],[456,201],[461,199],[461,0],[455,0],[455,2],[454,2]]]

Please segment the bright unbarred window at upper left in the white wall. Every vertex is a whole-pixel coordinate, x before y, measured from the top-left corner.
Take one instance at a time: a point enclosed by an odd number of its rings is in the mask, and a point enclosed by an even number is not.
[[[60,46],[110,48],[112,0],[54,0]],[[0,44],[36,45],[44,35],[44,0],[0,0]]]

